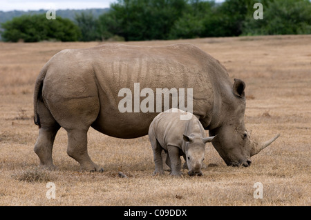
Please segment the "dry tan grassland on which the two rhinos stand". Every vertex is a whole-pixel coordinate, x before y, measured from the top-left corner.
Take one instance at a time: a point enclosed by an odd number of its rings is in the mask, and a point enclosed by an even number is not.
[[[0,205],[1,206],[310,206],[311,36],[232,37],[180,41],[126,42],[162,46],[193,43],[218,59],[229,76],[246,83],[245,125],[252,137],[271,146],[252,157],[249,168],[225,165],[207,144],[202,177],[153,177],[147,136],[116,139],[88,132],[88,152],[102,173],[80,172],[66,154],[59,130],[53,148],[57,170],[38,168],[33,147],[32,94],[44,63],[59,50],[91,43],[0,43]],[[129,178],[118,177],[122,171]],[[47,199],[46,183],[55,183]],[[263,199],[254,199],[254,183]]]

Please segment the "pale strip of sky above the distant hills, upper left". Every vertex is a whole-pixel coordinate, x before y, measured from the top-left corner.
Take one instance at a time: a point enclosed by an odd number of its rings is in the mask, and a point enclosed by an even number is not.
[[[222,1],[224,0],[216,0],[216,2]],[[115,2],[117,0],[0,0],[0,11],[109,8],[110,4]]]

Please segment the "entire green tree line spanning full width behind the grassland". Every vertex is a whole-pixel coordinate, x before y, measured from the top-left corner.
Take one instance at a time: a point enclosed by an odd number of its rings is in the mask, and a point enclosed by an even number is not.
[[[254,19],[254,3],[263,19]],[[118,0],[100,17],[91,12],[75,21],[45,14],[15,17],[2,24],[5,41],[102,41],[190,39],[259,34],[311,34],[309,0]]]

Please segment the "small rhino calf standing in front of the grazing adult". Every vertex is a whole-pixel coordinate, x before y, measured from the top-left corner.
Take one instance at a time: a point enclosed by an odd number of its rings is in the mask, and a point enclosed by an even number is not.
[[[185,114],[190,116],[187,120],[186,117],[182,118]],[[189,175],[202,175],[205,143],[212,141],[214,137],[206,137],[202,124],[194,114],[176,108],[158,114],[149,127],[149,140],[156,166],[153,174],[164,174],[164,150],[167,152],[166,163],[171,168],[171,175],[181,176],[180,156],[187,161]]]

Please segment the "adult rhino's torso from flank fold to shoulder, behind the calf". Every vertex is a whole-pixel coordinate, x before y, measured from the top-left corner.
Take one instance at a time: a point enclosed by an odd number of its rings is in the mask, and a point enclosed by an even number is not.
[[[122,88],[129,88],[133,93],[134,83],[140,83],[140,90],[151,88],[154,93],[156,88],[193,89],[193,112],[200,115],[200,119],[206,119],[205,126],[208,126],[214,103],[210,74],[217,74],[216,68],[220,64],[196,46],[178,44],[142,47],[111,44],[88,52],[93,57],[102,106],[95,129],[105,130],[109,135],[115,135],[119,129],[122,130],[122,137],[127,134],[129,137],[147,134],[152,119],[158,114],[156,110],[147,113],[121,113],[117,109],[118,103],[124,98],[118,97],[118,92]],[[140,97],[140,102],[143,99],[144,97]],[[116,123],[122,128],[111,128],[110,125]]]

